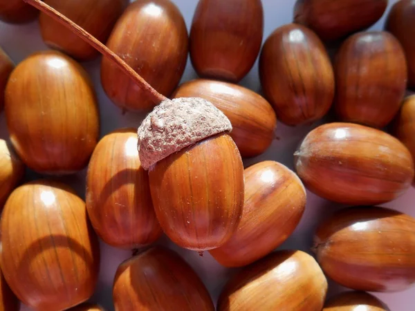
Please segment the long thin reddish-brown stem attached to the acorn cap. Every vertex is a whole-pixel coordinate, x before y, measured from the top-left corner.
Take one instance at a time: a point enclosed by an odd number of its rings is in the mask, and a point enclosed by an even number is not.
[[[44,12],[45,14],[49,15],[59,23],[62,23],[64,26],[66,26],[69,30],[71,30],[73,33],[77,34],[79,37],[81,37],[86,43],[90,44],[98,50],[102,55],[105,57],[108,57],[111,59],[111,61],[116,64],[124,73],[126,73],[131,79],[133,79],[134,82],[138,86],[140,86],[142,89],[147,91],[149,95],[151,95],[152,99],[154,100],[155,104],[159,104],[160,102],[163,102],[163,100],[167,100],[167,97],[164,95],[161,95],[158,93],[150,84],[148,84],[145,79],[143,79],[138,73],[136,73],[133,68],[131,68],[126,62],[124,62],[116,53],[113,53],[107,46],[102,44],[98,39],[93,37],[89,32],[84,30],[82,27],[78,26],[76,23],[71,21],[71,19],[68,19],[61,13],[57,12],[54,8],[51,8],[46,3],[44,3],[42,0],[24,0],[26,3],[30,4],[30,6],[34,6],[38,10]]]

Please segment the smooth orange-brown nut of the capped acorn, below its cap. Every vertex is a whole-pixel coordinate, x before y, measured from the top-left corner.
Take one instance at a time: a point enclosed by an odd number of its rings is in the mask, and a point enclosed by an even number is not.
[[[205,138],[149,169],[151,198],[167,236],[203,252],[237,230],[243,208],[243,163],[228,134]]]

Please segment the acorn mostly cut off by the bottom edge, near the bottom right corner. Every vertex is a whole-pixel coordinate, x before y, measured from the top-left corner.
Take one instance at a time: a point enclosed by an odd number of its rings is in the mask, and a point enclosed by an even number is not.
[[[326,302],[322,311],[389,311],[387,305],[367,292],[342,292]]]

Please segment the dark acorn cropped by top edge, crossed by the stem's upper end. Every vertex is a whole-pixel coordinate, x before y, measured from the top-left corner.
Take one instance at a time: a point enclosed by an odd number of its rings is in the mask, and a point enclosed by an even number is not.
[[[44,0],[68,19],[105,44],[127,0]],[[99,52],[59,21],[45,13],[39,16],[40,32],[45,44],[80,61],[91,60]]]

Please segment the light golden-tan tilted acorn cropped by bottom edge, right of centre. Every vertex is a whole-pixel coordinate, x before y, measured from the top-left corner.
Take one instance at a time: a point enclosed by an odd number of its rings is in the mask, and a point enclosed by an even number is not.
[[[321,311],[327,281],[314,258],[283,250],[245,267],[225,285],[218,311]]]

